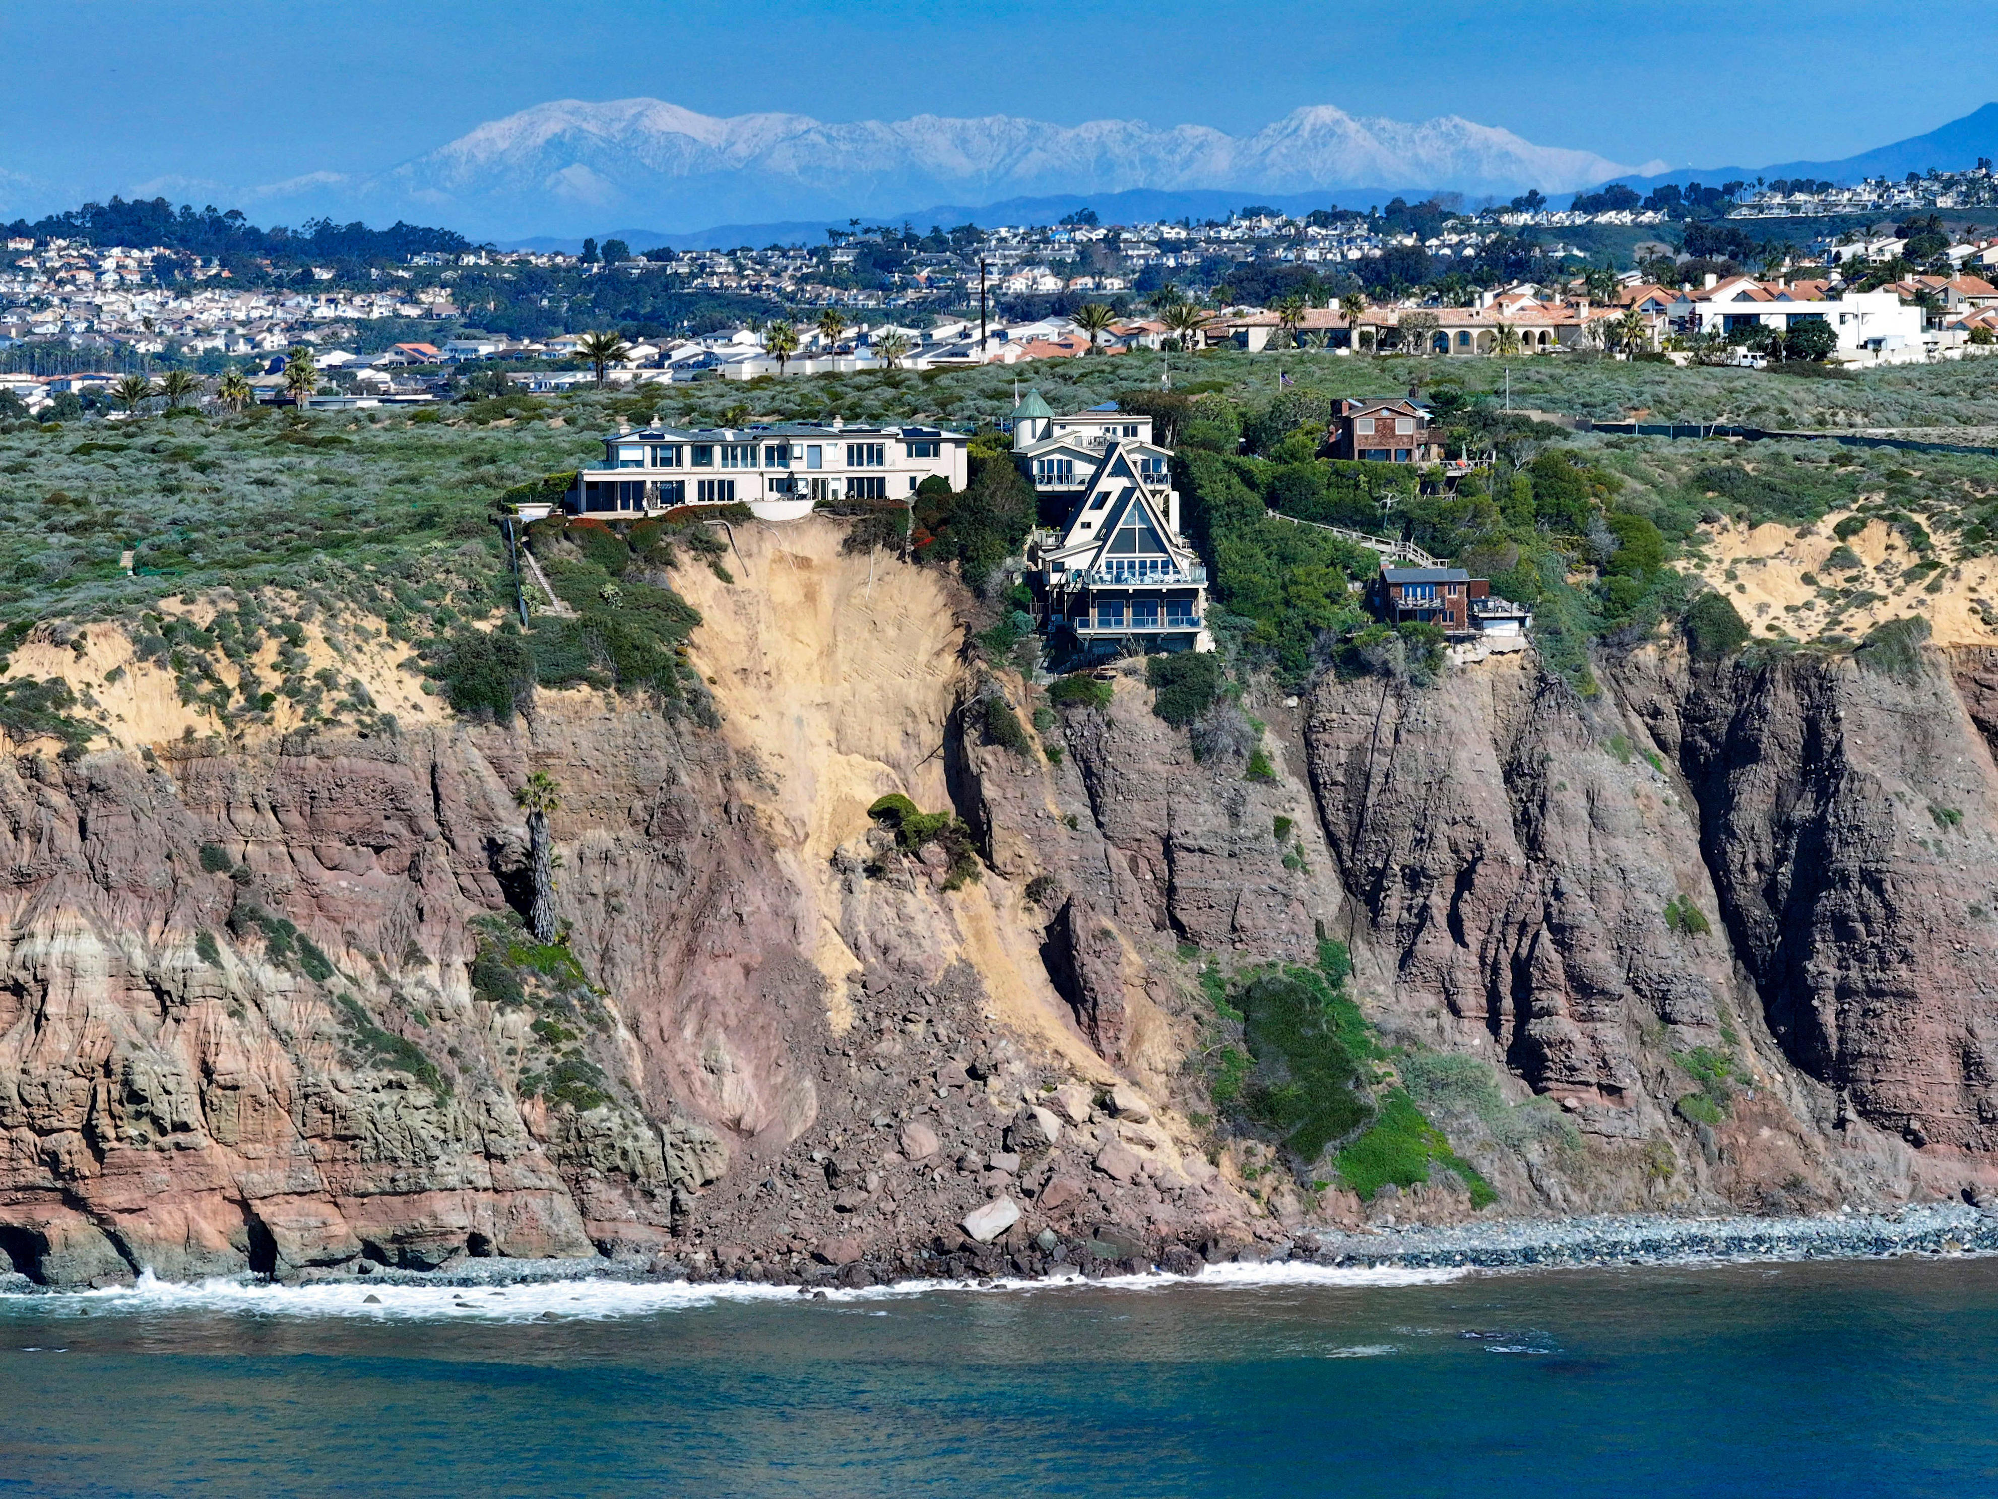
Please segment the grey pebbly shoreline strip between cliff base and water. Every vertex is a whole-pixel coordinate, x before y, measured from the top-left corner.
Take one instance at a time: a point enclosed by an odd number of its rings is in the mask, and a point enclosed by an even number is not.
[[[1077,1241],[1055,1245],[1027,1267],[987,1265],[963,1255],[937,1255],[907,1265],[909,1281],[1037,1281],[1155,1273],[1195,1277],[1209,1263],[1289,1263],[1325,1269],[1560,1269],[1606,1265],[1700,1265],[1804,1259],[1898,1259],[1906,1255],[1998,1253],[1998,1211],[1960,1205],[1912,1205],[1896,1213],[1828,1213],[1824,1217],[1660,1217],[1648,1213],[1572,1219],[1500,1219],[1457,1227],[1387,1227],[1357,1233],[1305,1233],[1273,1245],[1255,1243],[1217,1253],[1213,1261],[1171,1245],[1157,1259],[1115,1253],[1129,1245]],[[240,1277],[246,1279],[246,1277]],[[763,1283],[811,1289],[863,1289],[901,1281],[897,1275],[853,1275],[851,1265],[805,1263],[781,1275],[743,1275],[699,1257],[597,1259],[460,1259],[432,1271],[368,1265],[360,1273],[320,1273],[292,1285],[412,1285],[474,1289],[571,1281],[621,1283]],[[68,1295],[26,1275],[0,1275],[0,1295]]]

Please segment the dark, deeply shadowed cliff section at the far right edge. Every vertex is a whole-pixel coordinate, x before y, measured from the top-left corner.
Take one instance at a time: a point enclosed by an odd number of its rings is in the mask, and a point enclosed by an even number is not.
[[[1954,670],[1952,670],[1954,668]],[[1688,668],[1626,690],[1688,777],[1700,847],[1784,1053],[1940,1177],[1998,1145],[1998,775],[1988,652]]]

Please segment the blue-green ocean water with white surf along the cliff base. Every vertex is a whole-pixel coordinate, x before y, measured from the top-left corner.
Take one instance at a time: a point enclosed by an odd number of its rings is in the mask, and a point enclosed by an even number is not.
[[[0,1297],[0,1495],[1994,1491],[1988,1259]]]

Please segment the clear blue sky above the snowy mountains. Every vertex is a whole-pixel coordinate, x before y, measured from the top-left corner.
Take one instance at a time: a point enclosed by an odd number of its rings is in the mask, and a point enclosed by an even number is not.
[[[707,114],[1231,132],[1337,104],[1463,114],[1632,164],[1760,166],[1968,114],[1998,80],[1948,60],[1992,40],[1982,0],[1924,4],[1920,24],[1844,0],[10,0],[0,206],[26,206],[8,172],[64,196],[170,180],[202,202],[202,182],[378,170],[541,100],[639,94]]]

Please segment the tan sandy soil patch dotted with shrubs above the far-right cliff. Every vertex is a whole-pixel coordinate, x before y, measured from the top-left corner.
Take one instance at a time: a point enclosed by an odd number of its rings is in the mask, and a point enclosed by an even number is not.
[[[1866,530],[1838,542],[1832,528],[1846,514],[1804,528],[1774,522],[1706,526],[1706,558],[1688,562],[1686,570],[1726,594],[1756,636],[1812,640],[1840,634],[1856,640],[1884,620],[1920,614],[1938,646],[1998,646],[1998,628],[1986,624],[1978,608],[1990,606],[1990,618],[1998,620],[1998,560],[1970,558],[1910,582],[1904,574],[1920,558],[1886,522],[1868,522]],[[1828,568],[1840,546],[1860,558],[1858,570]],[[1938,538],[1938,560],[1948,562],[1946,546]],[[1806,574],[1816,582],[1806,582]],[[1936,580],[1942,580],[1940,590],[1928,592]],[[1840,610],[1836,598],[1820,594],[1830,588],[1858,588],[1880,598]]]

